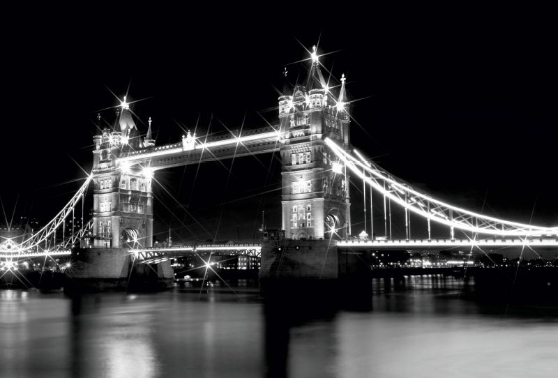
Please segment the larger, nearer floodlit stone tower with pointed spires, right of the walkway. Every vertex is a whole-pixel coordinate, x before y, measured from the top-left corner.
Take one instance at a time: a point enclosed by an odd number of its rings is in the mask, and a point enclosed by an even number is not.
[[[324,80],[316,50],[306,85],[279,98],[282,227],[287,239],[345,239],[350,234],[345,165],[328,148],[329,137],[349,153],[345,77],[337,99]]]

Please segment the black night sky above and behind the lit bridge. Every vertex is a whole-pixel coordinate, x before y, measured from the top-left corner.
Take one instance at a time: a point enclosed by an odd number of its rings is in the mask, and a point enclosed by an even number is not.
[[[273,86],[282,89],[285,66],[289,80],[304,76],[300,63],[288,64],[308,57],[303,46],[317,43],[321,29],[319,53],[335,53],[320,60],[337,79],[347,75],[351,98],[364,98],[352,108],[357,149],[452,204],[525,223],[532,213],[534,225],[557,226],[555,43],[545,22],[370,27],[372,21],[295,28],[248,18],[188,19],[167,27],[174,22],[138,19],[130,31],[100,31],[90,20],[71,27],[31,23],[4,47],[6,213],[15,208],[16,216],[45,222],[70,199],[81,181],[59,184],[84,177],[73,160],[89,172],[93,120],[98,109],[117,104],[109,89],[122,97],[130,77],[129,100],[151,97],[133,106],[140,133],[151,116],[158,144],[178,142],[183,131],[177,123],[193,130],[198,118],[197,135],[203,135],[212,114],[213,131],[225,130],[223,124],[239,128],[245,116],[246,128],[275,122],[276,109],[264,112],[277,105]],[[101,115],[114,121],[114,109]],[[159,171],[156,232],[170,225],[174,240],[214,239],[220,218],[216,239],[237,239],[236,225],[243,239],[251,239],[262,210],[267,225],[279,226],[280,195],[273,189],[280,186],[280,164],[271,155],[258,159],[235,160],[228,183],[228,172],[216,163],[202,165],[197,179],[196,166]],[[362,197],[351,190],[358,234]],[[189,206],[195,220],[177,204]],[[375,222],[376,234],[383,234],[383,224]],[[421,233],[425,225],[414,222]],[[402,222],[398,227],[404,232]],[[439,230],[441,237],[446,233]]]

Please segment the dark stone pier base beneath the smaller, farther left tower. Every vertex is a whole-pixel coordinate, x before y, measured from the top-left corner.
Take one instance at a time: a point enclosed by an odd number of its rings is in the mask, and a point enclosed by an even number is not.
[[[75,248],[64,292],[155,291],[172,287],[170,262],[135,264],[128,248]]]

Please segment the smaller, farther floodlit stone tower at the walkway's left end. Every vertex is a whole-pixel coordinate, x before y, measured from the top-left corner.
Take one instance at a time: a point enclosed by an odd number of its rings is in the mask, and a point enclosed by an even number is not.
[[[100,123],[100,116],[98,120]],[[153,171],[118,161],[131,151],[153,148],[151,118],[142,142],[124,97],[114,128],[101,128],[99,124],[93,142],[93,247],[151,247]]]

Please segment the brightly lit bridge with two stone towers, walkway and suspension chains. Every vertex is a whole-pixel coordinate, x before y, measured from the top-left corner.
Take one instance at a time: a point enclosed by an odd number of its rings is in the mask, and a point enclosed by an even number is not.
[[[153,248],[152,182],[156,172],[169,167],[274,152],[279,153],[282,162],[284,239],[300,241],[308,251],[312,247],[308,243],[316,241],[312,253],[323,252],[325,257],[320,257],[322,259],[330,258],[327,257],[328,251],[333,247],[358,250],[481,249],[492,246],[557,248],[558,227],[523,225],[460,209],[414,188],[364,158],[351,144],[351,102],[347,99],[345,76],[340,77],[339,91],[333,91],[324,80],[315,50],[309,60],[306,81],[297,83],[292,92],[278,98],[278,122],[263,128],[228,130],[227,133],[202,137],[188,132],[179,142],[156,145],[151,135],[151,118],[146,137],[142,139],[130,104],[124,97],[113,128],[102,128],[98,117],[98,132],[93,137],[93,169],[82,188],[47,226],[29,239],[18,244],[13,241],[0,243],[0,257],[67,255],[79,244],[82,248],[97,250],[96,256],[112,254],[119,264],[128,264],[130,259],[163,264],[184,253],[221,248],[220,245]],[[380,228],[384,229],[386,240],[348,240],[352,234],[350,180],[362,180],[364,192],[369,186],[377,193],[379,208],[383,206],[384,209],[383,227],[380,225]],[[56,232],[64,220],[83,207],[84,195],[91,183],[93,217],[86,227],[73,230],[67,236],[58,234],[57,239]],[[405,211],[403,240],[391,239],[388,231],[391,229],[391,210],[388,213],[387,202],[389,209],[393,203]],[[428,224],[428,234],[420,235],[421,239],[412,234],[410,213],[420,216]],[[446,226],[448,239],[431,239],[431,222]],[[455,229],[472,237],[456,239]],[[492,236],[500,239],[490,239]],[[54,245],[47,243],[53,238]],[[59,239],[62,242],[59,243]],[[239,251],[250,249],[244,247],[235,248]],[[257,253],[261,250],[262,258],[271,261],[273,248],[269,243],[250,247]],[[84,252],[79,258],[77,255],[73,258],[93,259],[92,253]],[[318,261],[305,260],[305,263],[318,264]],[[322,273],[323,266],[325,260]],[[333,271],[335,269],[330,269],[331,276],[336,274]],[[115,276],[119,274],[120,271],[114,273]],[[168,269],[165,274],[170,274]]]

